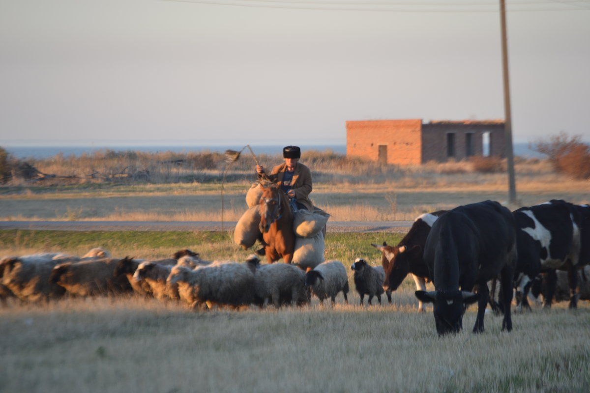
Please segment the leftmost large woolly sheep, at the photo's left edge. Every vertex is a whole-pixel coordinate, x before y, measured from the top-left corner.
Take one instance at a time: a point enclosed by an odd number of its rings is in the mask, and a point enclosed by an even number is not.
[[[53,267],[70,260],[64,257],[54,259],[58,255],[61,254],[42,253],[2,259],[2,285],[6,289],[2,291],[3,297],[12,293],[21,300],[38,302],[63,296],[65,290],[49,282]]]

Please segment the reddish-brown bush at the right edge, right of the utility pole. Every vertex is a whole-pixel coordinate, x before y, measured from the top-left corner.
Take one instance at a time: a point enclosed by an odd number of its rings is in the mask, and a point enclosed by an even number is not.
[[[549,137],[549,141],[537,141],[532,150],[548,156],[555,170],[561,173],[576,179],[590,178],[590,146],[579,135],[570,137],[561,131]]]

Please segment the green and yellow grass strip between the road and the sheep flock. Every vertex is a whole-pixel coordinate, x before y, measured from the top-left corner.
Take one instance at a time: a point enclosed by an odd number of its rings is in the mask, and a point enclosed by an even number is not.
[[[352,263],[357,257],[377,264],[381,254],[371,243],[397,244],[403,233],[327,233],[326,259]],[[156,231],[54,231],[0,230],[0,256],[27,252],[86,253],[94,247],[116,251],[144,259],[169,256],[176,250],[189,248],[207,259],[243,259],[250,250],[242,250],[232,242],[228,232],[156,232]],[[123,255],[124,254],[124,255]]]

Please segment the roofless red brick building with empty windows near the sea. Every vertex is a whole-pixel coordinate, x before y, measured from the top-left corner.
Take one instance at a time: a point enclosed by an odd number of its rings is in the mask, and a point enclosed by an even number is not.
[[[487,151],[484,151],[484,140]],[[349,157],[419,165],[484,155],[504,156],[503,120],[346,122],[346,156]]]

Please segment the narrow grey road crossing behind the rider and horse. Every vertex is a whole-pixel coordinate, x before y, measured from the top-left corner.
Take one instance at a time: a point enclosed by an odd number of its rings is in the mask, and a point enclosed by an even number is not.
[[[219,221],[1,221],[0,229],[35,230],[234,230],[236,222]],[[328,222],[327,232],[408,232],[411,221]]]

